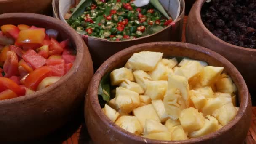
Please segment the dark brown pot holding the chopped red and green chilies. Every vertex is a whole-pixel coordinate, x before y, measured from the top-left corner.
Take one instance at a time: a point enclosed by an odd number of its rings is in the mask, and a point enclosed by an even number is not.
[[[58,0],[54,0],[55,3]],[[57,2],[58,3],[58,2]],[[58,6],[58,4],[55,6]],[[58,8],[53,8],[58,11]],[[140,37],[134,40],[128,41],[107,41],[95,37],[85,37],[85,43],[91,53],[94,68],[98,69],[99,66],[106,61],[110,56],[118,51],[128,48],[132,45],[140,43],[157,42],[157,41],[181,41],[183,30],[183,19],[185,13],[185,2],[181,0],[181,13],[178,19],[175,21],[175,26],[168,26],[152,35],[146,37]],[[58,18],[58,15],[55,15]]]

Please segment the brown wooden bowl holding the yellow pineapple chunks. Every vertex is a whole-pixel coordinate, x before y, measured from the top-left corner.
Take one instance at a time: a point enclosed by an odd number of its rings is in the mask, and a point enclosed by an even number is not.
[[[185,141],[157,141],[129,133],[111,122],[101,110],[98,101],[98,86],[101,78],[117,67],[123,67],[133,53],[140,51],[163,52],[163,57],[184,56],[208,62],[209,65],[224,67],[235,85],[240,103],[239,111],[229,124],[220,130]],[[251,122],[251,98],[248,88],[238,70],[223,56],[209,49],[179,42],[156,42],[134,45],[124,49],[105,61],[93,76],[85,97],[85,122],[95,144],[241,144],[245,140]]]

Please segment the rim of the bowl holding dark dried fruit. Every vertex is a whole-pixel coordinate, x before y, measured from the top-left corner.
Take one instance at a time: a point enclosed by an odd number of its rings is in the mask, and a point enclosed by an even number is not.
[[[216,37],[215,35],[213,35],[213,33],[209,29],[207,29],[207,27],[205,27],[205,25],[203,24],[203,21],[201,19],[201,10],[202,10],[203,4],[205,2],[206,2],[206,0],[197,0],[195,2],[194,6],[195,6],[195,15],[196,15],[195,17],[198,21],[199,26],[203,29],[203,31],[206,34],[210,35],[212,39],[218,41],[219,43],[222,43],[223,45],[227,45],[231,48],[237,48],[237,49],[240,49],[240,50],[256,52],[256,49],[241,47],[241,46],[237,46],[237,45],[232,45],[230,43],[225,42],[224,40],[221,40],[219,37]]]

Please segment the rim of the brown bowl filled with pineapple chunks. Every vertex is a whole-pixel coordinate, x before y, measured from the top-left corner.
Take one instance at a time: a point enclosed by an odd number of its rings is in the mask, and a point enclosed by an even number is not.
[[[224,66],[227,69],[234,69],[235,71],[233,71],[235,73],[235,79],[237,79],[238,81],[240,81],[241,83],[239,83],[238,85],[240,85],[240,89],[237,92],[237,94],[239,95],[243,95],[245,96],[243,101],[240,101],[240,108],[239,111],[237,112],[237,115],[235,116],[235,118],[229,122],[227,125],[225,125],[223,128],[213,132],[213,133],[209,133],[205,136],[200,136],[198,138],[193,138],[193,139],[188,139],[188,140],[183,140],[183,141],[160,141],[160,140],[153,140],[153,139],[147,139],[147,138],[143,138],[141,136],[137,136],[133,133],[129,133],[128,131],[125,131],[124,129],[120,128],[119,126],[115,125],[114,122],[112,122],[111,120],[109,120],[109,118],[103,113],[100,104],[99,104],[99,100],[98,100],[98,87],[101,81],[101,78],[108,72],[109,69],[109,62],[113,62],[114,58],[121,58],[122,56],[124,56],[125,54],[131,54],[134,53],[133,51],[136,51],[136,48],[141,48],[141,47],[145,47],[146,51],[147,48],[152,48],[151,45],[155,46],[155,45],[165,45],[165,46],[173,46],[173,47],[180,47],[180,48],[188,48],[188,49],[192,49],[193,51],[197,51],[200,53],[205,53],[206,55],[220,61],[222,64],[224,64]],[[146,46],[145,46],[146,45]],[[144,49],[145,50],[145,49]],[[124,52],[125,51],[125,52]],[[92,91],[91,91],[92,90]],[[152,43],[144,43],[144,44],[139,44],[139,45],[133,45],[129,48],[126,48],[118,53],[116,53],[115,55],[111,56],[109,59],[107,59],[100,67],[99,69],[95,72],[95,75],[93,76],[91,83],[88,87],[88,91],[87,94],[88,98],[86,99],[90,99],[90,103],[92,103],[92,107],[93,107],[93,112],[96,113],[97,117],[100,117],[101,119],[101,123],[104,123],[104,125],[108,125],[109,128],[112,129],[112,131],[115,131],[116,133],[120,133],[123,136],[126,136],[129,139],[133,139],[134,141],[138,141],[138,142],[148,142],[148,143],[161,143],[161,144],[190,144],[190,143],[194,143],[194,142],[198,142],[198,141],[205,141],[207,139],[212,139],[216,136],[220,136],[221,133],[227,132],[230,128],[234,127],[235,124],[237,122],[239,122],[241,120],[241,118],[243,117],[243,115],[245,114],[246,111],[246,107],[250,106],[250,94],[248,92],[248,88],[247,85],[242,77],[242,75],[240,74],[240,72],[235,68],[235,66],[230,63],[226,58],[224,58],[223,56],[221,56],[220,54],[211,51],[210,49],[207,48],[203,48],[199,45],[194,45],[194,44],[189,44],[189,43],[181,43],[181,42],[152,42]],[[86,101],[85,101],[86,102]],[[243,103],[242,103],[243,102]],[[85,117],[86,117],[86,113],[85,113]]]

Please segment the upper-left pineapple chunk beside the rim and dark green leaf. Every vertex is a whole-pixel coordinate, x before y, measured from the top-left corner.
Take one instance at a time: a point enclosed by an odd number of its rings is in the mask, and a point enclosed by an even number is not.
[[[131,69],[122,67],[115,69],[110,73],[111,85],[120,85],[125,79],[134,81],[133,72]]]

